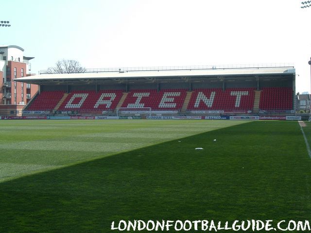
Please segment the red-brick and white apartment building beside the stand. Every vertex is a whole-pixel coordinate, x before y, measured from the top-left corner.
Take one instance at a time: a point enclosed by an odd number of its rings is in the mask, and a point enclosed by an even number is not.
[[[0,115],[19,115],[23,107],[38,91],[38,86],[15,82],[30,76],[34,57],[26,57],[24,49],[16,45],[0,46]]]

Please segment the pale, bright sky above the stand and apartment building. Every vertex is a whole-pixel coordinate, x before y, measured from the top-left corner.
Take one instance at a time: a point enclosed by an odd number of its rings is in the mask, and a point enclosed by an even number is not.
[[[9,0],[0,44],[34,56],[33,73],[60,59],[86,68],[290,63],[296,91],[310,92],[311,8],[300,2]]]

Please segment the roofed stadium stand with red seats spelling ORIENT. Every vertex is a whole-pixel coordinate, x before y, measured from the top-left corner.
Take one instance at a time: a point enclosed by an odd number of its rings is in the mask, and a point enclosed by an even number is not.
[[[115,116],[120,108],[151,108],[153,114],[183,116],[294,113],[292,66],[86,70],[40,74],[18,82],[40,87],[23,109],[25,114]]]

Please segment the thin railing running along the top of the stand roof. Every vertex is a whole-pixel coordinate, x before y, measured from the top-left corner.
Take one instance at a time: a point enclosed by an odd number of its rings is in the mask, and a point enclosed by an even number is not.
[[[139,71],[173,71],[173,70],[205,70],[205,69],[251,69],[251,68],[294,68],[293,64],[243,64],[243,65],[208,65],[208,66],[171,66],[171,67],[120,67],[120,68],[92,68],[84,69],[82,73],[103,73],[103,72],[139,72]],[[39,74],[60,74],[67,73],[51,70],[40,70]],[[74,73],[74,72],[71,72]],[[80,73],[80,72],[77,72]]]

